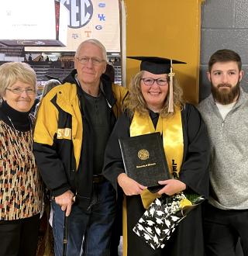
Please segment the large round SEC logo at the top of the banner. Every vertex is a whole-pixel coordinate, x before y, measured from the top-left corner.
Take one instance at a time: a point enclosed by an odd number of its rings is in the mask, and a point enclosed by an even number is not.
[[[85,26],[93,15],[91,0],[60,0],[68,10],[68,26],[79,29]]]

